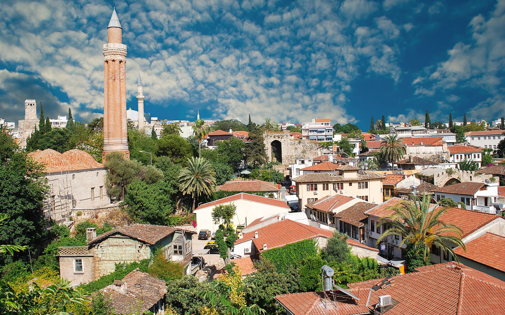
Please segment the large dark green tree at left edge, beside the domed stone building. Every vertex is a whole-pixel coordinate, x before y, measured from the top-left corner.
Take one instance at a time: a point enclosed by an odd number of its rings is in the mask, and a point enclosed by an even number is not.
[[[42,167],[17,150],[11,135],[0,131],[0,244],[36,248],[46,235],[43,203],[47,192]],[[27,253],[16,254],[23,257]],[[0,254],[0,264],[12,258]]]

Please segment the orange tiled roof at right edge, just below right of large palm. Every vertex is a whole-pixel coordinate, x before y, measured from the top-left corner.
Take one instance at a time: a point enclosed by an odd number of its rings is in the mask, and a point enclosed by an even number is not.
[[[505,248],[505,236],[486,233],[465,244],[467,250],[457,247],[454,252],[459,256],[479,264],[505,272],[505,260],[503,260],[503,248]]]

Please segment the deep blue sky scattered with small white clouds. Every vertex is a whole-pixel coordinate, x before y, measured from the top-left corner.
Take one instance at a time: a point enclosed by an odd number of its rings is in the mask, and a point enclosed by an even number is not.
[[[103,54],[116,7],[145,111],[167,119],[331,118],[364,130],[505,115],[505,1],[3,1],[0,117],[103,113]]]

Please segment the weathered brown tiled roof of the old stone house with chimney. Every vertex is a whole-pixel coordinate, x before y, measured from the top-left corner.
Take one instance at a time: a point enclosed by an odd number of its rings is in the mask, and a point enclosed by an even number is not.
[[[120,227],[120,228],[114,229],[112,231],[97,235],[95,239],[88,242],[88,245],[95,243],[97,241],[100,241],[100,240],[102,240],[108,236],[111,236],[113,234],[116,234],[116,233],[130,236],[130,237],[135,238],[139,241],[145,242],[149,245],[154,245],[158,241],[162,240],[163,238],[167,237],[168,235],[172,234],[173,232],[175,232],[177,230],[181,230],[181,229],[174,228],[171,226],[165,226],[165,225],[151,225],[151,224],[135,223],[133,225]],[[185,231],[185,232],[195,233],[195,232],[191,232],[191,231]]]

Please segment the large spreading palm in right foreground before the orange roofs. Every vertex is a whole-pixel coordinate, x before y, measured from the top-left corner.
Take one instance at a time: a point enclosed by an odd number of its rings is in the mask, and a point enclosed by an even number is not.
[[[422,199],[412,196],[410,201],[402,201],[393,206],[391,209],[394,213],[381,218],[382,221],[377,224],[390,226],[379,237],[377,245],[387,236],[398,235],[402,238],[400,246],[404,243],[415,245],[423,251],[425,262],[428,261],[432,245],[438,246],[444,253],[448,251],[458,261],[451,245],[447,244],[457,244],[466,250],[461,240],[463,230],[454,224],[441,221],[440,216],[447,208],[440,207],[438,203],[430,207],[430,201],[431,195],[423,195]]]

